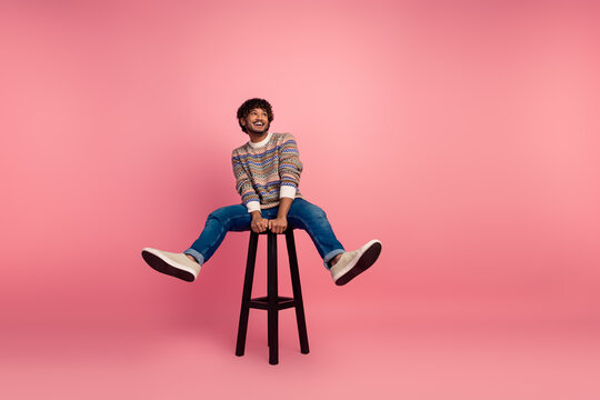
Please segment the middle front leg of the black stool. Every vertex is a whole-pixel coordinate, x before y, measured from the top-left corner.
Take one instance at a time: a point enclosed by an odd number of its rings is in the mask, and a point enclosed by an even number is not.
[[[279,362],[279,308],[278,308],[278,290],[277,290],[277,234],[268,232],[268,271],[267,271],[267,298],[269,302],[268,310],[268,341],[269,341],[269,363],[277,364]]]

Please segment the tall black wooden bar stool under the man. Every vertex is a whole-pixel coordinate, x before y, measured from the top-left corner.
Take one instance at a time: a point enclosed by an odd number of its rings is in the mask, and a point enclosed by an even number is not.
[[[254,264],[257,261],[257,247],[259,234],[267,234],[267,296],[251,299],[252,281],[254,279]],[[279,362],[279,310],[294,307],[296,321],[298,323],[298,334],[300,337],[300,352],[309,352],[307,322],[304,320],[304,306],[302,303],[302,290],[300,289],[300,273],[298,271],[298,258],[296,256],[296,242],[293,240],[293,228],[288,226],[283,232],[288,246],[288,258],[290,260],[290,278],[293,290],[293,298],[278,294],[277,284],[277,233],[267,230],[262,233],[250,231],[250,243],[248,244],[248,260],[246,262],[246,278],[243,279],[243,294],[240,312],[240,323],[238,327],[238,346],[236,356],[243,356],[246,348],[246,333],[248,331],[248,316],[251,308],[267,310],[268,312],[268,342],[269,363]]]

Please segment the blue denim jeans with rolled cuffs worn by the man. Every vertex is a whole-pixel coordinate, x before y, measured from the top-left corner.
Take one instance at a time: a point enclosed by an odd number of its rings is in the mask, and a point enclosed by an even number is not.
[[[279,207],[274,207],[261,210],[261,214],[266,219],[276,219]],[[289,227],[307,231],[323,259],[326,269],[329,270],[328,262],[333,257],[344,252],[343,246],[333,234],[326,212],[320,207],[304,199],[296,198],[290,206],[287,218]],[[243,204],[221,207],[208,216],[202,233],[183,252],[203,264],[217,251],[228,231],[249,231],[252,216]]]

